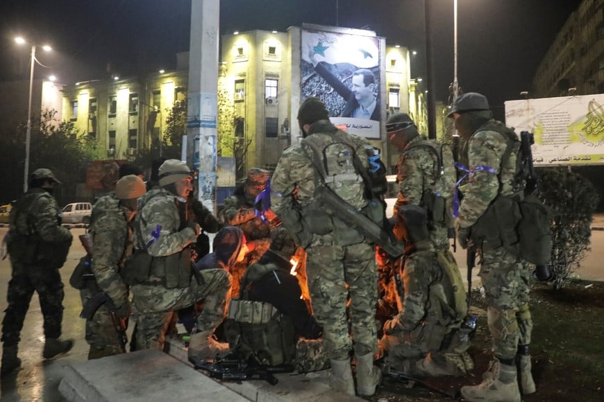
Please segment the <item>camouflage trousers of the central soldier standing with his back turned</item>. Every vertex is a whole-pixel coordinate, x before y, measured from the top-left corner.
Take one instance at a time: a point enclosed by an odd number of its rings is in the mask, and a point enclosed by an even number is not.
[[[355,353],[375,353],[378,347],[376,303],[378,284],[375,248],[367,243],[333,244],[330,234],[316,236],[306,249],[306,272],[312,310],[323,326],[328,358],[349,358],[352,340],[346,315],[350,297]]]

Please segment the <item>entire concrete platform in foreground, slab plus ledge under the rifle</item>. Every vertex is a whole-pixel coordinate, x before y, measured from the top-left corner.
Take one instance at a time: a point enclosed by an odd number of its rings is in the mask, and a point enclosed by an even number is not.
[[[276,374],[278,384],[218,381],[193,369],[181,340],[166,340],[168,353],[137,351],[65,367],[59,392],[67,401],[363,401],[333,392],[328,371]]]

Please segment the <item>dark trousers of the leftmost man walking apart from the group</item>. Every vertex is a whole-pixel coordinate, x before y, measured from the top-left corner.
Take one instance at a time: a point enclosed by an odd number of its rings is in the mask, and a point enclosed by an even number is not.
[[[5,346],[19,343],[34,291],[40,298],[40,308],[44,316],[44,336],[47,339],[60,337],[65,292],[58,268],[13,263],[6,296],[8,307],[2,321],[2,342]]]

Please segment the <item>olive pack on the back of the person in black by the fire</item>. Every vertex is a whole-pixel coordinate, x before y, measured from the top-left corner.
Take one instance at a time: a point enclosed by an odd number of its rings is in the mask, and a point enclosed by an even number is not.
[[[270,303],[249,300],[249,289],[255,281],[278,269],[272,262],[250,265],[241,281],[242,297],[231,299],[228,306],[225,326],[231,350],[262,365],[289,364],[296,356],[292,319]]]

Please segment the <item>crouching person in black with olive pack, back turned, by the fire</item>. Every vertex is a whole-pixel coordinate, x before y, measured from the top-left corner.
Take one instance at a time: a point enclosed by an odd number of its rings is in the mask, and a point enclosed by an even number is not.
[[[231,348],[247,359],[263,365],[292,363],[305,373],[324,369],[327,358],[318,339],[322,329],[290,274],[296,248],[285,228],[273,231],[269,250],[245,271],[240,298],[230,301],[226,334]]]

